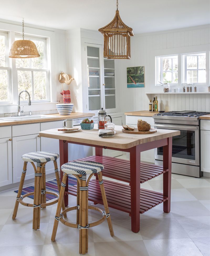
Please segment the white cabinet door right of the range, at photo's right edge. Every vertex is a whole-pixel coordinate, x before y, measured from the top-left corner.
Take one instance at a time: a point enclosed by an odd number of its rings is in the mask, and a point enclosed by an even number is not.
[[[201,171],[210,173],[210,131],[201,130]]]

